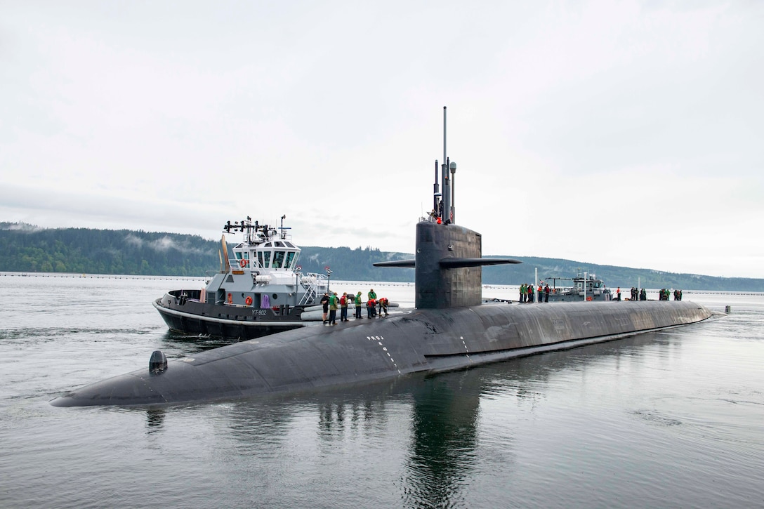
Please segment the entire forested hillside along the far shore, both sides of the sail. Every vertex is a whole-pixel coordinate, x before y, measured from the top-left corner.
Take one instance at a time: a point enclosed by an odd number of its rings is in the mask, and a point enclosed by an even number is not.
[[[229,245],[232,247],[232,245]],[[198,235],[141,230],[38,229],[24,223],[0,222],[0,271],[71,272],[199,276],[220,267],[218,241]],[[413,269],[373,267],[375,261],[413,258],[374,248],[318,248],[303,246],[303,272],[332,270],[335,280],[413,281]],[[682,290],[764,291],[764,280],[675,274],[650,269],[587,264],[556,258],[523,258],[517,265],[483,268],[484,284],[522,284],[539,278],[572,277],[587,271],[609,287]],[[549,279],[549,284],[552,284]]]

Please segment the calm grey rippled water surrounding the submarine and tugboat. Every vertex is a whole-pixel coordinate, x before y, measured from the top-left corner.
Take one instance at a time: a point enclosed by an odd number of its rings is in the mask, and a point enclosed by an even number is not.
[[[733,313],[430,377],[163,410],[48,404],[154,349],[215,346],[151,306],[201,284],[0,274],[0,507],[764,507],[762,294],[685,292]]]

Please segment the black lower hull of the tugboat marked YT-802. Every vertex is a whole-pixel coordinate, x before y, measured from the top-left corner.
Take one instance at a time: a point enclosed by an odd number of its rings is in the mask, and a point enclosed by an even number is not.
[[[170,293],[155,300],[154,307],[170,331],[184,336],[243,341],[316,325],[315,321],[306,322],[300,318],[301,307],[277,315],[273,310],[181,300]]]

